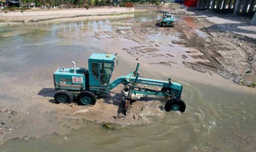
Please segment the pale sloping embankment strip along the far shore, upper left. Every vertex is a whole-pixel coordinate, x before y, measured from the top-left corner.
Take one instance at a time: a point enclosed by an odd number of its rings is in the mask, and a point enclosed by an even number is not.
[[[123,15],[134,13],[134,8],[103,7],[93,9],[51,9],[51,10],[26,10],[19,12],[1,12],[0,22],[38,22],[57,18],[77,18],[82,16]]]

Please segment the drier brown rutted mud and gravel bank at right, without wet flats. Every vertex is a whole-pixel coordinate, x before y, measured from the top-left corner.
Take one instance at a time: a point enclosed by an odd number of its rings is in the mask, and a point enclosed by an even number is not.
[[[256,84],[256,57],[253,51],[255,40],[232,32],[213,30],[212,23],[202,19],[197,19],[197,22],[204,23],[201,31],[207,34],[207,39],[197,34],[196,29],[178,22],[177,32],[180,33],[181,41],[172,41],[172,43],[199,50],[204,55],[190,56],[202,58],[205,61],[194,63],[183,61],[183,64],[199,72],[210,70],[240,85],[255,87],[253,85]]]

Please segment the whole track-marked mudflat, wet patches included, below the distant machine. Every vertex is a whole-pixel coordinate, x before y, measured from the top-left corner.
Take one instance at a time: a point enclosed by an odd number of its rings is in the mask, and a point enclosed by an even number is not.
[[[190,20],[195,22],[192,26]],[[111,36],[117,40],[120,38],[131,40],[137,45],[124,46],[123,50],[135,57],[136,60],[140,60],[140,58],[152,60],[153,62],[149,64],[165,66],[171,66],[170,63],[180,64],[199,72],[208,72],[209,74],[216,72],[233,81],[238,78],[238,81],[235,82],[240,85],[246,85],[246,80],[255,81],[256,84],[255,52],[250,52],[250,49],[254,48],[254,41],[251,39],[248,41],[248,38],[241,38],[241,36],[230,33],[219,33],[216,32],[216,29],[211,30],[210,27],[213,24],[205,19],[188,19],[188,21],[181,19],[175,23],[174,27],[165,28],[156,26],[157,21],[154,20],[133,22],[133,24],[129,24],[132,25],[130,29],[118,29],[115,32],[105,32],[104,34],[95,33],[94,37],[101,39],[101,37]],[[168,45],[166,42],[162,42],[163,38],[172,36],[176,38],[169,41]],[[237,40],[238,38],[241,40]],[[232,40],[235,39],[234,43]],[[243,44],[240,44],[241,41]],[[176,46],[187,47],[191,50],[169,51],[171,47],[176,48]],[[177,63],[176,60],[180,62]]]

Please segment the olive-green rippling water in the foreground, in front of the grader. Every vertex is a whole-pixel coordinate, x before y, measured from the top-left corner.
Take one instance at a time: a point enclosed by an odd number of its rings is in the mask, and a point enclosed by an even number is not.
[[[65,135],[12,139],[4,151],[253,151],[255,95],[208,85],[185,85],[187,111],[164,112],[154,123],[106,130],[101,123]]]

